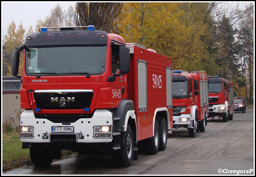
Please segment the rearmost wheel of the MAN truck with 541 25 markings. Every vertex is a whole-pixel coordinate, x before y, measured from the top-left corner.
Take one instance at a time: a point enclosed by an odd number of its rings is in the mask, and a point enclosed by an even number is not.
[[[159,150],[163,151],[167,146],[167,138],[168,138],[168,129],[165,118],[161,118],[159,124],[159,134],[160,134],[160,143]]]

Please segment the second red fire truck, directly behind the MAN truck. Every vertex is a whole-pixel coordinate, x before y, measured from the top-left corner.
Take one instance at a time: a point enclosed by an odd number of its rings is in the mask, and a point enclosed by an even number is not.
[[[174,70],[173,128],[188,129],[189,137],[205,131],[208,117],[208,80],[205,71]]]

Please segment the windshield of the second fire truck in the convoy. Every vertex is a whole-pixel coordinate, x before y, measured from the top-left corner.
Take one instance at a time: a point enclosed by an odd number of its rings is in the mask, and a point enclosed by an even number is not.
[[[187,81],[173,81],[173,98],[187,98]]]

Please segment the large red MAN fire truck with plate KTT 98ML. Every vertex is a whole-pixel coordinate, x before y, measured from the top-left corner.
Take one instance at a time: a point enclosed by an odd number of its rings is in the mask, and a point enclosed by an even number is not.
[[[53,31],[59,28],[59,31]],[[117,166],[165,150],[172,120],[171,59],[95,27],[40,28],[24,51],[20,140],[36,166],[61,150],[111,150]]]

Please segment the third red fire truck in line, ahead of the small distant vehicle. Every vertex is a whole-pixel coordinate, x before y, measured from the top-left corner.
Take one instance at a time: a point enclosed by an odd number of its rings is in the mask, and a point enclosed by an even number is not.
[[[234,84],[218,76],[208,76],[209,117],[222,117],[223,122],[233,119]]]

